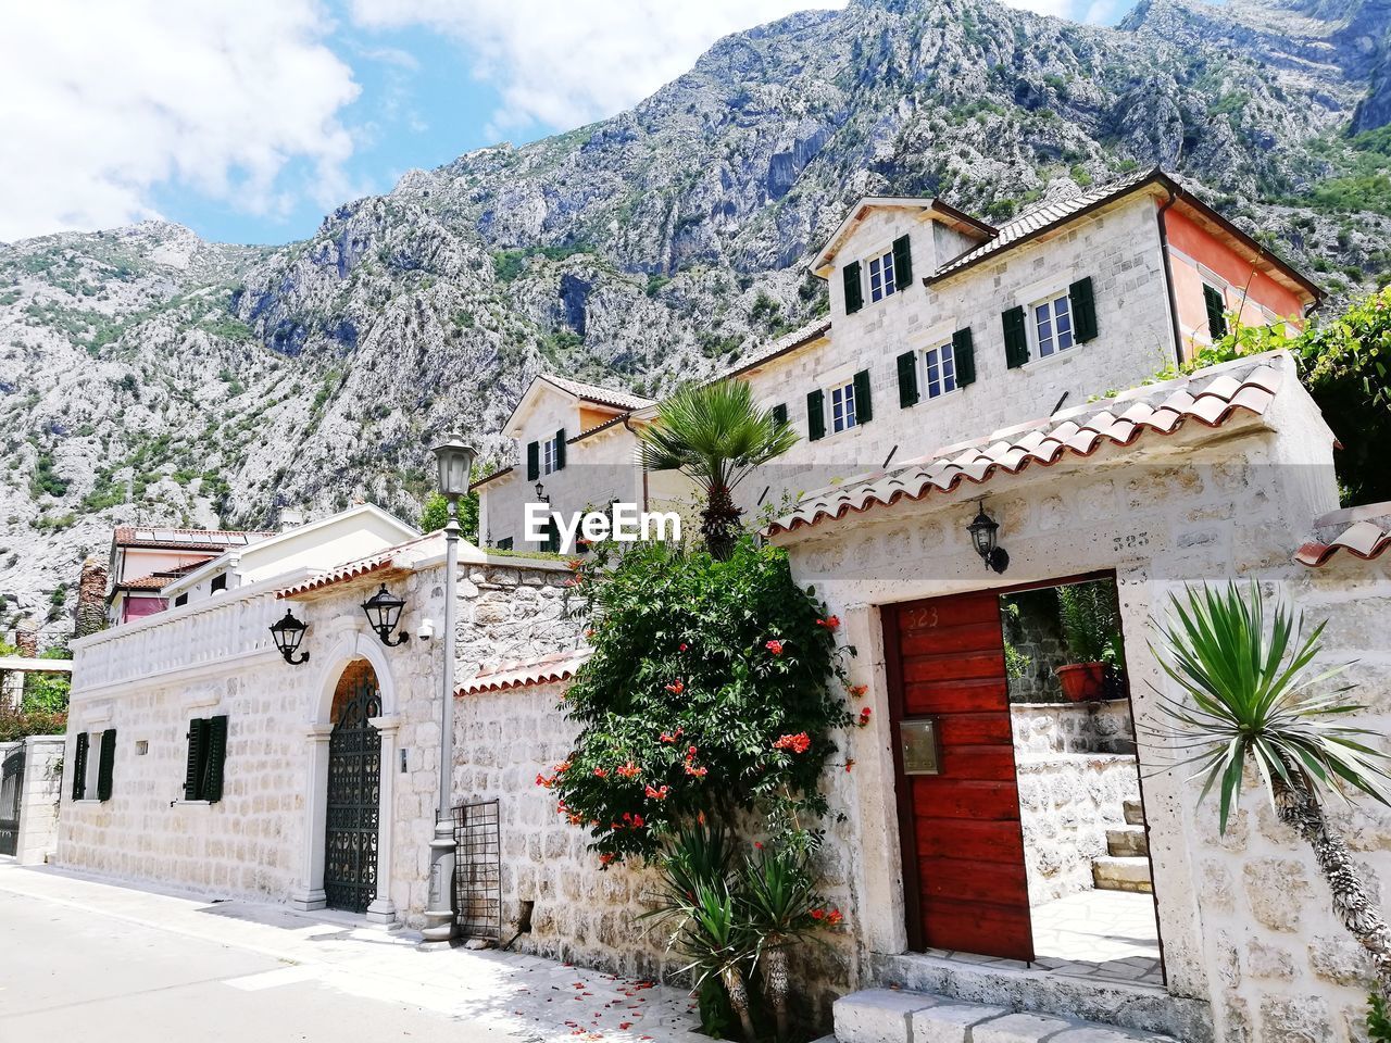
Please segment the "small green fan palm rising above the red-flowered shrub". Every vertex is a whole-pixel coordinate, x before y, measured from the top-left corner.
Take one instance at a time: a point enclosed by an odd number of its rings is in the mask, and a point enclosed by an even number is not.
[[[782,456],[797,434],[772,410],[754,406],[743,381],[683,388],[666,399],[640,432],[643,466],[684,473],[705,494],[701,533],[709,552],[729,558],[739,538],[734,487],[758,466]]]

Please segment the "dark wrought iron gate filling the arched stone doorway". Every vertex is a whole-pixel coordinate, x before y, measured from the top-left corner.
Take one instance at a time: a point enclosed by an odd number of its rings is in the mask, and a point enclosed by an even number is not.
[[[330,908],[366,912],[377,897],[381,818],[381,694],[370,670],[351,679],[328,737],[328,812],[324,898]]]

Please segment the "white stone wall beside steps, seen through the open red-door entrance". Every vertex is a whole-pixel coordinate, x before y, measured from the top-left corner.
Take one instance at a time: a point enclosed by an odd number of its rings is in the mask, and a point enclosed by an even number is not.
[[[1134,757],[1052,754],[1015,763],[1029,903],[1092,889],[1092,859],[1106,830],[1125,825],[1124,801],[1139,800]]]

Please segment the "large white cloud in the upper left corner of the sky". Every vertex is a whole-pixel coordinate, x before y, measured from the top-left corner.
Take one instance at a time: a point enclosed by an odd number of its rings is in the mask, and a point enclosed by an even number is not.
[[[316,0],[6,3],[0,241],[154,216],[164,184],[277,213],[294,160],[338,202],[357,86],[330,28]]]

